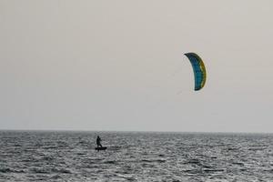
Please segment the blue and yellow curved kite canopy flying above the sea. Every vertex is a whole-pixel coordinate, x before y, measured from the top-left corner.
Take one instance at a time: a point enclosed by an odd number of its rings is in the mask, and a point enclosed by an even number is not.
[[[191,66],[195,75],[195,90],[200,90],[203,86],[205,86],[207,73],[206,67],[201,59],[201,57],[197,56],[195,53],[187,53],[185,54],[189,59]]]

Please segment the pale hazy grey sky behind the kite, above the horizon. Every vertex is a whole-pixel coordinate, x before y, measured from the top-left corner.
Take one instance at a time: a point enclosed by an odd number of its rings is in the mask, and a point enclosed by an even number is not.
[[[272,6],[0,0],[0,129],[271,133]]]

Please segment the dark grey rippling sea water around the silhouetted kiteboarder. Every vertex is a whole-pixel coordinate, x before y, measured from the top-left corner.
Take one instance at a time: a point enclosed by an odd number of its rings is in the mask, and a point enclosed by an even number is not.
[[[273,181],[273,135],[0,131],[0,181]]]

